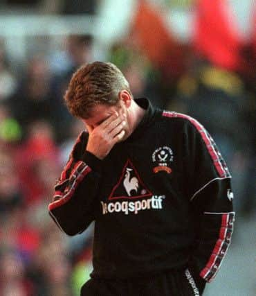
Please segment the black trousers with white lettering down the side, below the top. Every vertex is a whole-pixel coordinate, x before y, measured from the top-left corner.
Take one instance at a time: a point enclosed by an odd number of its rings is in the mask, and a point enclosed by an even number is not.
[[[204,288],[205,281],[195,280],[184,268],[138,279],[89,279],[81,296],[197,296]]]

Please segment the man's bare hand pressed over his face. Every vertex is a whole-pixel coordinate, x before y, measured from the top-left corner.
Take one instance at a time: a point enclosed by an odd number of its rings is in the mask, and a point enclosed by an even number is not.
[[[94,129],[86,126],[89,132],[86,150],[99,159],[104,159],[113,146],[125,136],[125,124],[125,116],[116,112]]]

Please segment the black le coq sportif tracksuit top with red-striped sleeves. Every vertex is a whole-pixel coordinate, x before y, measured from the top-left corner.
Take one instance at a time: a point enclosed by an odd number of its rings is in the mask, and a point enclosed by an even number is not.
[[[77,138],[49,213],[68,235],[95,220],[92,277],[129,279],[190,266],[211,281],[230,244],[230,173],[210,134],[190,116],[146,112],[103,160]]]

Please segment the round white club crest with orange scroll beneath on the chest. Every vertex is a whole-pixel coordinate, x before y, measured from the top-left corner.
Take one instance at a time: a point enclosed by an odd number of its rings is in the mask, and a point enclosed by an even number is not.
[[[158,173],[159,171],[165,171],[166,173],[172,173],[172,168],[170,168],[170,162],[173,162],[174,154],[172,149],[167,146],[159,147],[154,150],[152,154],[152,161],[157,164],[153,168],[154,173]]]

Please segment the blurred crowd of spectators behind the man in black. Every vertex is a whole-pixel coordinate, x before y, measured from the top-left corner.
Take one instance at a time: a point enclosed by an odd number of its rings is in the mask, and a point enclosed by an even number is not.
[[[212,58],[201,46],[204,37],[179,44],[158,15],[139,9],[108,60],[125,74],[134,97],[147,96],[157,107],[184,112],[205,126],[232,173],[235,210],[245,218],[255,214],[256,40],[239,48],[237,60]],[[147,17],[155,28],[144,27]],[[0,295],[76,296],[89,277],[93,225],[68,237],[47,207],[84,129],[62,98],[75,69],[97,60],[93,42],[91,35],[69,35],[62,49],[35,52],[19,71],[0,46]]]

